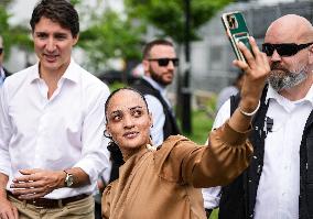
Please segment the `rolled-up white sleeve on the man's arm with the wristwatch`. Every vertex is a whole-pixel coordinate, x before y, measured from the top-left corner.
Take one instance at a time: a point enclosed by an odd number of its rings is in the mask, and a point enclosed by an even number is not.
[[[88,110],[83,123],[82,133],[82,158],[74,165],[80,167],[90,182],[96,182],[100,172],[109,167],[109,152],[107,149],[109,140],[104,136],[106,129],[105,103],[109,96],[106,87],[98,96],[88,101]]]

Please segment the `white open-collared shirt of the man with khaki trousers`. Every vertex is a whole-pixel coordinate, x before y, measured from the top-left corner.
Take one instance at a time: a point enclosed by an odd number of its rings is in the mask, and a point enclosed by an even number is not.
[[[108,87],[72,59],[50,99],[39,64],[8,77],[2,88],[0,172],[9,176],[7,188],[19,169],[80,167],[91,185],[55,189],[45,198],[91,194],[109,165],[104,138]]]

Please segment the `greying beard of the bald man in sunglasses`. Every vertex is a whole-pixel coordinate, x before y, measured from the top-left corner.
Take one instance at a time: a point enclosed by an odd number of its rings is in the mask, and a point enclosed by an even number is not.
[[[271,65],[271,73],[268,78],[269,84],[276,91],[292,88],[307,78],[307,67],[291,72],[282,67],[279,63]]]

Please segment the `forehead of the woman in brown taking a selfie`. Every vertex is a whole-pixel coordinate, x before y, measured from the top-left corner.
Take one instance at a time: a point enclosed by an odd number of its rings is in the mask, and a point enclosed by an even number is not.
[[[108,112],[116,110],[125,111],[133,107],[145,108],[142,97],[132,90],[120,90],[109,100]]]

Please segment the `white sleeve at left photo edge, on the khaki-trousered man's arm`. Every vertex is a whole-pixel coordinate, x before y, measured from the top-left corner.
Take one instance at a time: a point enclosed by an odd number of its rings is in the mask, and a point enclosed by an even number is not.
[[[11,161],[9,154],[9,142],[12,135],[8,113],[8,100],[6,83],[0,88],[0,173],[9,176]]]

